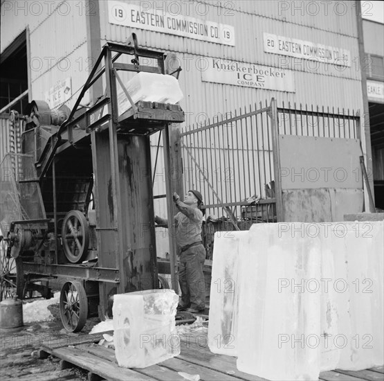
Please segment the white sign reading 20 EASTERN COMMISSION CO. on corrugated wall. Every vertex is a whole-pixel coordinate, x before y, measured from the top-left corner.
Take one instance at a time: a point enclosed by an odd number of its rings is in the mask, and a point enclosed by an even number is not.
[[[302,39],[282,37],[269,33],[264,33],[264,51],[326,64],[351,66],[351,53],[345,49],[313,44],[313,42],[303,41]]]

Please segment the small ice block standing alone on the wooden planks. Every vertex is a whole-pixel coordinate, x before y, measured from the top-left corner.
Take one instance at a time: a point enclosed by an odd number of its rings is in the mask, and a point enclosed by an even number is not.
[[[145,368],[180,354],[175,327],[178,301],[173,290],[113,296],[113,342],[119,366]]]

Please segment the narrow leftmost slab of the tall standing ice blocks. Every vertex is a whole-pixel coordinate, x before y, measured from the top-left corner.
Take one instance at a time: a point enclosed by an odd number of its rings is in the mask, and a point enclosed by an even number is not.
[[[208,346],[221,355],[237,356],[239,241],[248,231],[214,234]]]

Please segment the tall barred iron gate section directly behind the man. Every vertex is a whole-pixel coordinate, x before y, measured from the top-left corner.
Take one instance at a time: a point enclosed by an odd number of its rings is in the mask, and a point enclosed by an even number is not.
[[[181,132],[183,187],[203,195],[203,239],[212,258],[215,231],[248,230],[257,222],[280,220],[275,194],[280,184],[273,152],[275,100],[190,125]]]

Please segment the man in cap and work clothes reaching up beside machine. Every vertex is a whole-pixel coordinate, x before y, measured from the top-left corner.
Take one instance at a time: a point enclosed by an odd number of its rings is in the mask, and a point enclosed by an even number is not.
[[[184,202],[180,201],[177,193],[174,193],[173,200],[176,208],[179,209],[179,213],[174,217],[181,288],[181,303],[179,303],[177,310],[196,313],[205,308],[203,274],[205,248],[201,241],[203,212],[199,209],[203,203],[203,197],[198,190],[189,190],[184,196]],[[155,222],[167,226],[167,220],[157,215]]]

